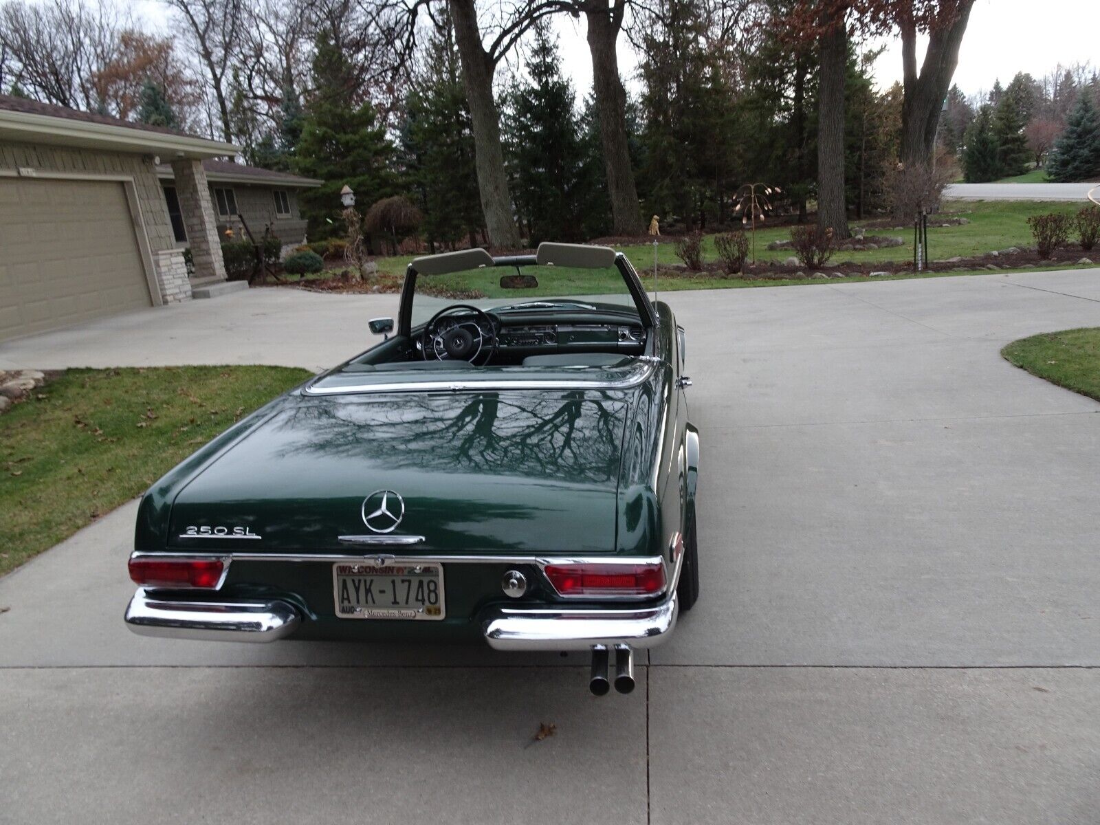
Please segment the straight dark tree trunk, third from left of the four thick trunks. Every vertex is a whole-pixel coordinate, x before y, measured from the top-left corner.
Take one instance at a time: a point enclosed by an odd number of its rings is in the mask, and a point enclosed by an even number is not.
[[[848,32],[844,10],[821,36],[821,79],[817,91],[817,229],[833,230],[833,238],[848,237],[844,199],[844,87],[848,61]]]

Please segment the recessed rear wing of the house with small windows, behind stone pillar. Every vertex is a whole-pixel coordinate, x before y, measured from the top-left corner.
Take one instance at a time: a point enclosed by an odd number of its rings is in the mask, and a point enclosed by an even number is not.
[[[298,193],[320,186],[320,180],[216,158],[205,160],[202,168],[210,183],[210,202],[220,237],[232,230],[234,238],[258,241],[270,231],[282,242],[283,255],[305,243],[306,219],[298,210]],[[187,246],[187,227],[172,166],[162,164],[156,174],[164,187],[176,244]]]

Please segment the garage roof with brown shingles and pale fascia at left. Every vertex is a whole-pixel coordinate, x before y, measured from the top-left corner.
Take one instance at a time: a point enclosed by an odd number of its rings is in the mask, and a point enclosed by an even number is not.
[[[168,157],[212,158],[241,151],[232,143],[10,95],[0,95],[0,140],[4,139]]]

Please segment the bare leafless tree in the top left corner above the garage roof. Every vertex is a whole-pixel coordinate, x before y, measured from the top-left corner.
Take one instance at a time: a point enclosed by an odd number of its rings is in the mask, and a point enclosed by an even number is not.
[[[103,111],[96,76],[116,59],[121,33],[132,28],[116,7],[84,0],[47,0],[0,7],[0,48],[8,72],[30,95],[48,103]]]

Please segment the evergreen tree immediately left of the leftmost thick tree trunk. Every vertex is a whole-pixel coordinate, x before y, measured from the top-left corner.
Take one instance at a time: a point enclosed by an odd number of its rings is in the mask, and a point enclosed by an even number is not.
[[[400,127],[409,184],[424,212],[428,243],[454,248],[480,242],[484,228],[474,135],[453,26],[443,18],[428,42],[424,70],[414,78]]]

